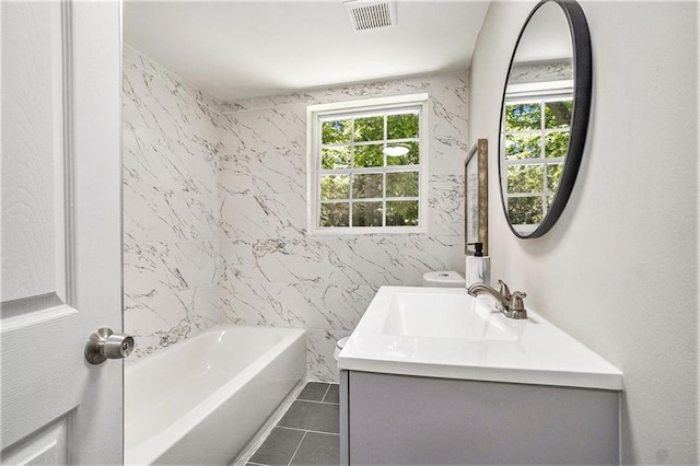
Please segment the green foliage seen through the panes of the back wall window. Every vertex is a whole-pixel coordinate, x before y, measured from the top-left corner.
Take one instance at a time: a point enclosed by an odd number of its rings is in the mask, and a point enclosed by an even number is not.
[[[322,121],[320,129],[319,226],[418,225],[418,112],[342,117]],[[389,145],[404,145],[408,154],[385,155]],[[385,172],[398,166],[406,170]],[[364,168],[377,172],[355,172]]]

